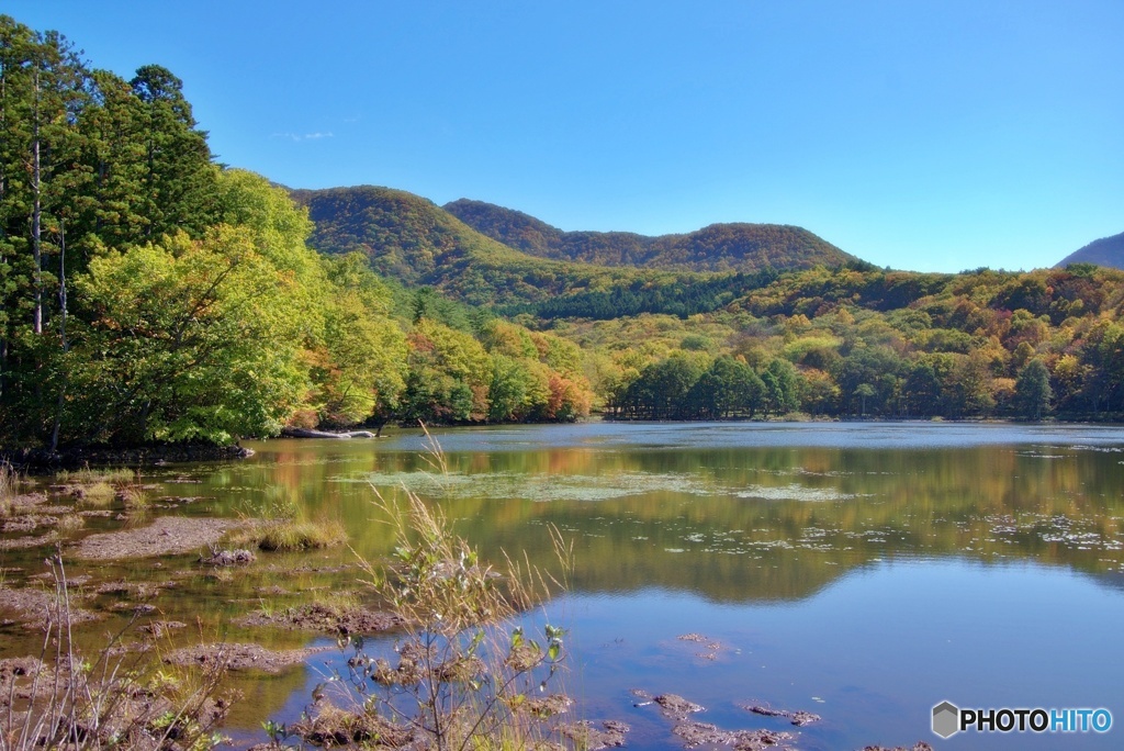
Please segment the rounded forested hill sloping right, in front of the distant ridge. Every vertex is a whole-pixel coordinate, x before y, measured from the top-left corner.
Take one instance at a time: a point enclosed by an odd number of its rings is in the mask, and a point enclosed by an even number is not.
[[[688,316],[716,310],[777,275],[770,265],[752,273],[704,273],[674,271],[687,265],[676,263],[667,263],[667,269],[655,268],[659,263],[638,269],[536,257],[482,235],[405,191],[360,186],[290,192],[308,207],[315,224],[309,244],[321,253],[361,252],[386,278],[407,287],[429,286],[507,316]],[[720,244],[720,234],[704,230],[694,237],[696,244],[704,238]]]

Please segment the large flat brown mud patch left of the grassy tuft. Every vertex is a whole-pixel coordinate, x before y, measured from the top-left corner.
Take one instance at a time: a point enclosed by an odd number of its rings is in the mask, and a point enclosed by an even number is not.
[[[90,535],[69,552],[88,561],[198,553],[239,525],[235,519],[161,516],[146,527]]]

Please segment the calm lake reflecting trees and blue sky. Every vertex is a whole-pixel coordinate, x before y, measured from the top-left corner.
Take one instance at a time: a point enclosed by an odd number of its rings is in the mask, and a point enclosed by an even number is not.
[[[1124,429],[588,423],[434,436],[444,472],[420,431],[402,429],[251,443],[248,460],[164,468],[152,480],[198,499],[176,513],[299,504],[343,521],[370,560],[392,545],[372,486],[438,504],[486,558],[526,552],[549,570],[556,527],[574,548],[569,591],[546,606],[568,628],[566,690],[583,716],[631,724],[628,748],[681,747],[654,707],[634,706],[633,689],[681,695],[719,727],[795,732],[800,749],[1120,747],[1116,727],[942,741],[930,717],[948,699],[1105,707],[1124,723]],[[263,594],[270,583],[305,596],[356,588],[355,572],[339,569],[352,555],[263,554],[234,580],[179,580],[163,607],[238,640],[235,614],[288,601]],[[109,568],[101,576],[158,577],[148,564]],[[330,642],[274,634],[266,645],[303,643]],[[344,657],[244,680],[247,700],[227,731],[264,740],[263,716],[298,716]],[[795,729],[746,702],[823,721]]]

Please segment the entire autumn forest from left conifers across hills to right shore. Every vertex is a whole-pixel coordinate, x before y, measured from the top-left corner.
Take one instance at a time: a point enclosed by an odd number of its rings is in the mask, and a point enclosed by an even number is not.
[[[1117,271],[922,274],[792,227],[643,238],[448,208],[220,166],[172,72],[126,80],[0,17],[4,446],[1124,414]]]

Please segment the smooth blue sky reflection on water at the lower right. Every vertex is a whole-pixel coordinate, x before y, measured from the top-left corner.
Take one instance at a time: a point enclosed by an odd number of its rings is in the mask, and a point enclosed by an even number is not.
[[[944,699],[1124,712],[1115,659],[1124,594],[1061,569],[879,563],[782,605],[719,605],[643,589],[573,595],[553,603],[546,617],[570,630],[568,693],[581,698],[589,718],[629,723],[631,749],[680,748],[655,707],[633,706],[634,688],[699,703],[707,711],[695,718],[723,729],[797,732],[795,745],[812,751],[918,740],[941,749],[1120,748],[1115,729],[1107,735],[959,734],[950,741],[930,732],[931,708]],[[677,639],[689,633],[719,646]],[[343,670],[346,657],[318,655],[314,664],[328,675]],[[278,716],[298,716],[320,680],[310,673]],[[750,700],[824,720],[795,729],[737,707]]]

